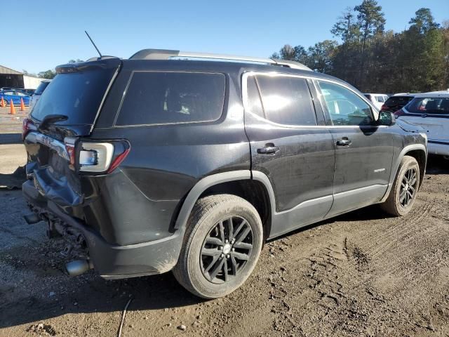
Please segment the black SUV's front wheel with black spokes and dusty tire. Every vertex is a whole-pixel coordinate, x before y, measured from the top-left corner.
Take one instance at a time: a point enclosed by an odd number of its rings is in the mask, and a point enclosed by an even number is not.
[[[380,206],[392,216],[405,216],[415,203],[419,187],[420,166],[415,158],[404,156],[390,194]]]

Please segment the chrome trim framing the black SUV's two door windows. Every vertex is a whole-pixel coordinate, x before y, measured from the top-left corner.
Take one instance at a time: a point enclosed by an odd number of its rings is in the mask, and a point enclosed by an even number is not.
[[[374,126],[369,126],[369,125],[340,125],[340,126],[335,126],[335,125],[313,125],[313,126],[311,126],[311,125],[279,124],[279,123],[276,123],[274,121],[270,121],[269,119],[265,119],[263,117],[258,116],[255,113],[251,112],[250,109],[248,108],[249,107],[249,103],[248,103],[248,77],[256,76],[256,75],[263,75],[263,76],[269,76],[269,77],[296,77],[296,78],[300,78],[300,79],[311,79],[312,83],[314,84],[314,88],[315,88],[316,94],[318,95],[321,107],[323,107],[323,101],[322,101],[322,98],[321,98],[322,95],[320,93],[321,90],[320,91],[317,90],[314,80],[327,81],[327,82],[330,82],[330,83],[333,83],[333,84],[337,84],[337,85],[342,86],[343,88],[348,89],[352,93],[355,93],[359,98],[362,98],[362,100],[365,103],[368,103],[368,105],[372,109],[371,110],[371,114],[373,114],[373,105],[368,102],[366,97],[364,97],[363,95],[358,94],[356,91],[351,89],[349,86],[345,86],[344,84],[340,84],[339,82],[333,81],[331,79],[317,79],[316,77],[311,77],[311,76],[306,76],[306,75],[283,74],[283,73],[279,73],[279,72],[245,72],[242,75],[242,86],[241,86],[243,109],[245,110],[245,112],[250,113],[253,117],[255,117],[256,119],[259,119],[260,121],[264,121],[264,122],[266,122],[268,124],[272,124],[274,126],[281,126],[283,128],[361,128],[363,126],[365,126],[365,127],[377,127],[377,128],[387,128],[388,127],[388,126],[385,126],[385,125],[374,125]],[[310,96],[310,97],[311,97],[311,99],[313,99],[312,96]],[[373,118],[373,120],[375,120],[375,119]]]

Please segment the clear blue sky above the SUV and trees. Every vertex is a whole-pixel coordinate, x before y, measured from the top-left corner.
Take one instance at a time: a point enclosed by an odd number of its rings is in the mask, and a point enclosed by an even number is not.
[[[387,29],[399,32],[420,7],[449,20],[449,0],[378,0]],[[330,29],[347,6],[361,0],[100,1],[23,0],[1,17],[0,65],[40,72],[95,49],[128,58],[143,48],[170,48],[267,57],[283,44],[310,46],[332,39]],[[5,5],[3,6],[5,7]],[[9,14],[8,14],[9,13]],[[13,14],[13,15],[10,15]],[[14,36],[14,37],[13,37]]]

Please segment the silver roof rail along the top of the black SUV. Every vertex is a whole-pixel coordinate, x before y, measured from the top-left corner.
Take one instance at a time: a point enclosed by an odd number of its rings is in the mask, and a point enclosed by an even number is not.
[[[289,67],[293,69],[309,70],[300,62],[289,60],[277,60],[274,58],[253,58],[249,56],[236,56],[227,54],[212,54],[212,53],[195,53],[189,51],[172,51],[169,49],[142,49],[134,55],[130,60],[169,60],[170,58],[206,58],[210,60],[234,60],[243,62],[260,62],[269,65],[279,65],[281,67]]]

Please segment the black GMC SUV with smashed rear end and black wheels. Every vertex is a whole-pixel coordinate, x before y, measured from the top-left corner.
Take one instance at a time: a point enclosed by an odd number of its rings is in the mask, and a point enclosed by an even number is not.
[[[71,242],[69,275],[173,270],[203,298],[253,271],[263,243],[379,203],[413,205],[418,126],[295,62],[144,50],[62,65],[28,119],[26,220]]]

